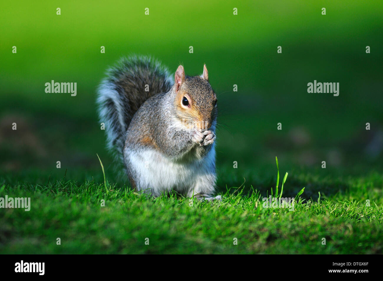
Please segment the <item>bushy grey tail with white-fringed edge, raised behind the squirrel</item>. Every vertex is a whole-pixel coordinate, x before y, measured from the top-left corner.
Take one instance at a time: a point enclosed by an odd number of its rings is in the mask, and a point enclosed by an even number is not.
[[[105,123],[108,149],[122,159],[134,113],[149,97],[168,92],[173,81],[164,66],[147,56],[123,58],[106,75],[98,88],[98,114]]]

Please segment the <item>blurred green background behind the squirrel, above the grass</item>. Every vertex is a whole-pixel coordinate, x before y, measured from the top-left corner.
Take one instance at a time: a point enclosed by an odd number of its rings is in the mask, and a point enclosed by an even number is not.
[[[223,113],[221,190],[244,178],[247,186],[271,187],[275,156],[297,188],[310,187],[313,177],[382,171],[381,1],[16,1],[1,10],[3,182],[45,184],[65,169],[67,179],[102,181],[96,153],[108,179],[121,182],[105,150],[95,92],[106,68],[132,53],[153,55],[172,72],[182,63],[188,75],[206,63]],[[46,94],[51,80],[77,82],[77,96]],[[314,80],[339,82],[339,96],[308,94]]]

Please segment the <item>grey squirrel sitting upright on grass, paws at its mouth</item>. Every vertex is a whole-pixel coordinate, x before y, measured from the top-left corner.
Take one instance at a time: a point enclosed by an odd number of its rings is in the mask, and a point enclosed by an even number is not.
[[[126,167],[136,191],[214,197],[217,96],[206,65],[201,76],[178,66],[174,80],[148,56],[121,59],[98,88],[107,148]]]

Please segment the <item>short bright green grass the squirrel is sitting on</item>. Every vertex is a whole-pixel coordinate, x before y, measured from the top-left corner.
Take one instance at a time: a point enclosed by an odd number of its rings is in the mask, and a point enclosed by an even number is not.
[[[378,173],[340,178],[349,186],[345,192],[317,200],[300,194],[295,211],[263,207],[262,192],[245,184],[226,188],[221,201],[206,202],[175,193],[154,198],[98,176],[100,181],[64,176],[45,184],[0,186],[0,197],[31,197],[32,205],[29,212],[2,210],[0,252],[382,253],[382,191],[372,186],[381,186]],[[314,182],[324,187],[328,180]]]

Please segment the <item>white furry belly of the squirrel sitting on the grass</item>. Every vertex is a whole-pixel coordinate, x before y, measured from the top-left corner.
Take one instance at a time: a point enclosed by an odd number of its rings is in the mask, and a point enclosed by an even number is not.
[[[208,154],[194,161],[179,162],[166,158],[151,148],[139,151],[125,148],[128,169],[137,190],[145,190],[154,196],[174,189],[184,196],[211,194],[215,182],[214,147]],[[193,191],[194,190],[194,191]]]

